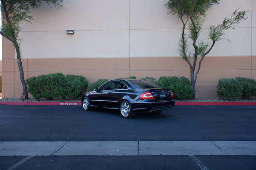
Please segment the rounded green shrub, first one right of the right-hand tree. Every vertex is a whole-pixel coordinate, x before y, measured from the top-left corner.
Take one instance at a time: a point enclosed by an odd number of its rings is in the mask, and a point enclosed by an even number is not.
[[[222,78],[218,80],[217,96],[223,100],[236,100],[241,97],[242,85],[232,78]]]

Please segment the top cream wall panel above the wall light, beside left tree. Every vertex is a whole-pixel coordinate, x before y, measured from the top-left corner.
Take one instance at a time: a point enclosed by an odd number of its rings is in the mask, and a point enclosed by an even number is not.
[[[31,11],[33,26],[23,31],[124,30],[129,28],[129,0],[64,0],[56,9],[43,5]]]

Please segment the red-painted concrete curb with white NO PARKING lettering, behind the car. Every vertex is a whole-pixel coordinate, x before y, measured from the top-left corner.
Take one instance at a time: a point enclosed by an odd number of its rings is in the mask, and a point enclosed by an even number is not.
[[[0,102],[0,105],[81,105],[81,102]],[[223,105],[223,106],[256,106],[256,102],[175,102],[183,105]]]

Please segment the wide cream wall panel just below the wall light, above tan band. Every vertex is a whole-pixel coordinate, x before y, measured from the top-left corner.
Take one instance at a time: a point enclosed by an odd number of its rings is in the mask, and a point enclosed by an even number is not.
[[[129,31],[22,32],[23,58],[128,57]],[[45,38],[47,37],[47,38]]]

